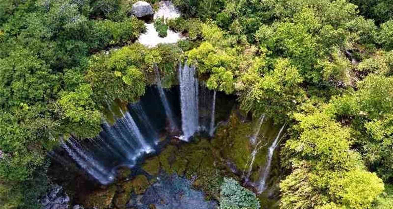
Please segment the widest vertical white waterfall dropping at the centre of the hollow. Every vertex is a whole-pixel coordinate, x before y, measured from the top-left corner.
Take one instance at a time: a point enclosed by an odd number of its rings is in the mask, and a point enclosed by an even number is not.
[[[183,140],[194,135],[198,130],[198,79],[195,75],[195,67],[189,67],[187,63],[183,68],[179,64],[180,82],[180,108],[182,112]]]

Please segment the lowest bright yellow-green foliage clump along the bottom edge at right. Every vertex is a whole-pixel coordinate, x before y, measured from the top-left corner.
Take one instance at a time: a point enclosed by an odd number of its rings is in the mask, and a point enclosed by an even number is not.
[[[310,169],[303,162],[281,181],[281,208],[370,208],[384,190],[382,181],[365,170],[316,174]]]

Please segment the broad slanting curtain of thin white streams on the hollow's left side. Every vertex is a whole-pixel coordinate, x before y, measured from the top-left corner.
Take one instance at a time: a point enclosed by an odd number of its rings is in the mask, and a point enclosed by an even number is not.
[[[143,125],[147,127],[147,132],[156,133],[152,125],[149,125],[143,109],[137,105],[134,109],[140,120],[145,121]],[[112,126],[105,122],[102,125],[103,131],[94,139],[81,140],[80,143],[74,138],[62,141],[62,147],[69,156],[104,185],[114,181],[117,167],[133,167],[138,158],[155,151],[157,138],[143,136],[130,112],[120,112],[123,117],[117,119]]]

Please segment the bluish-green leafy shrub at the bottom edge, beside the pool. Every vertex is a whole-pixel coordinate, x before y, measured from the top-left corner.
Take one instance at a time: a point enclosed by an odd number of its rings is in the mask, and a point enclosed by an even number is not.
[[[233,178],[224,178],[220,195],[220,209],[261,208],[255,194],[239,185]]]

